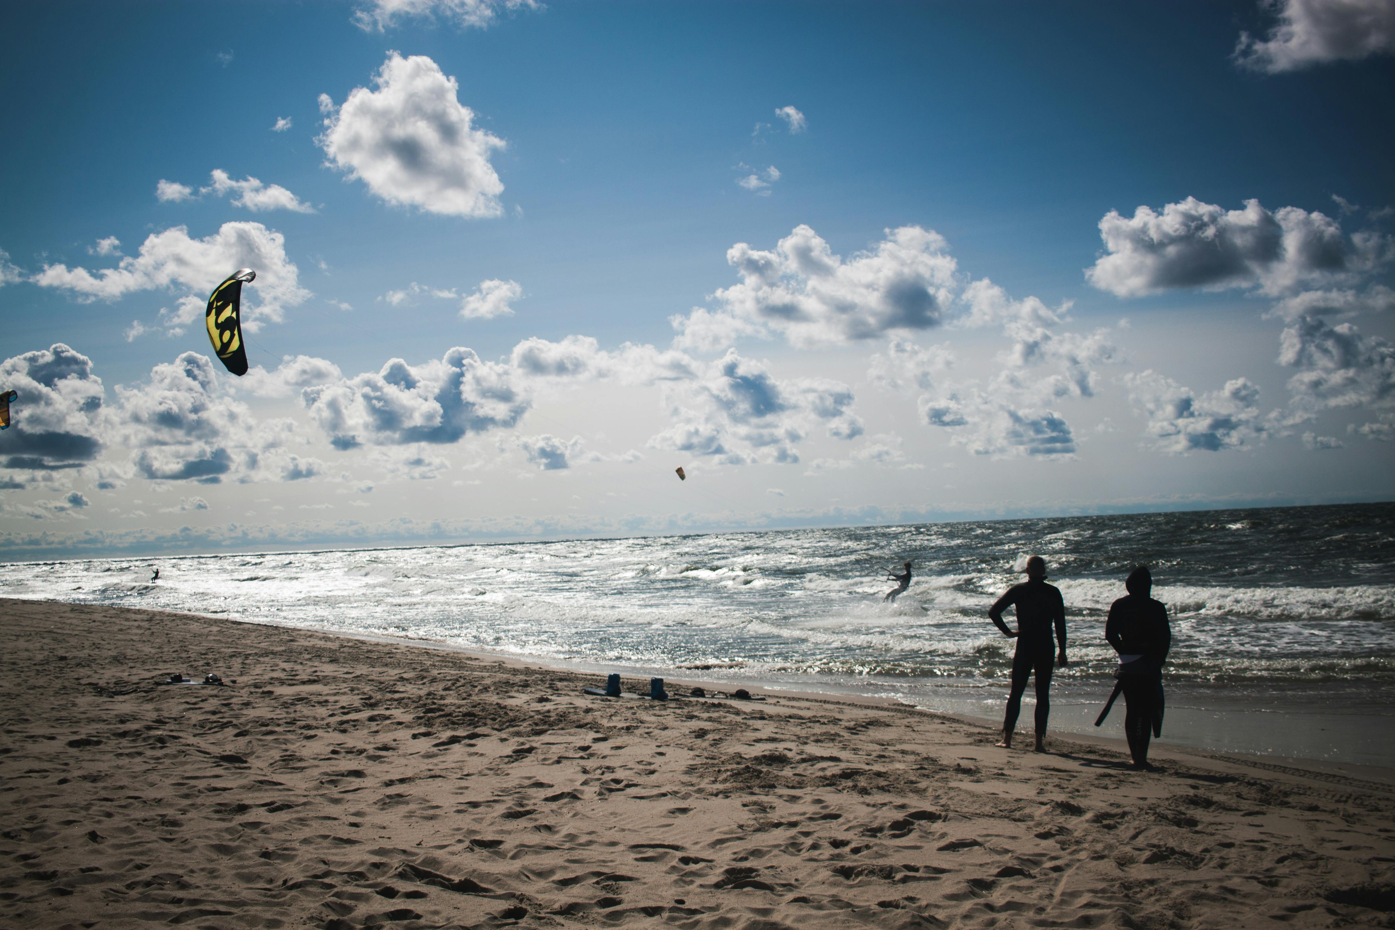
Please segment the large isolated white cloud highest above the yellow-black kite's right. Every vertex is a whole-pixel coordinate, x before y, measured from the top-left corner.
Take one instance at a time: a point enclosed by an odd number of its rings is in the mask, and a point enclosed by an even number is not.
[[[333,167],[389,204],[448,216],[499,216],[504,184],[490,165],[504,139],[472,125],[459,85],[425,56],[389,53],[377,91],[354,88],[338,110],[321,95],[317,142]]]

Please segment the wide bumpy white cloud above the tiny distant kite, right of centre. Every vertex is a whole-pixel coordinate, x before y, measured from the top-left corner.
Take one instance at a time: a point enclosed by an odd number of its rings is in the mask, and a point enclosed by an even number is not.
[[[738,336],[778,335],[812,347],[937,326],[953,300],[956,272],[944,238],[919,226],[886,234],[847,262],[808,226],[771,251],[732,245],[727,262],[741,283],[713,296],[716,311],[672,317],[675,344],[710,350]]]

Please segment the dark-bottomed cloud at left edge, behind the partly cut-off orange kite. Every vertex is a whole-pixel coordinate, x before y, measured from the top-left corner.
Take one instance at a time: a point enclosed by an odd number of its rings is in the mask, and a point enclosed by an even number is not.
[[[67,468],[100,453],[105,389],[91,358],[54,343],[0,363],[0,386],[18,393],[4,435],[6,467]]]

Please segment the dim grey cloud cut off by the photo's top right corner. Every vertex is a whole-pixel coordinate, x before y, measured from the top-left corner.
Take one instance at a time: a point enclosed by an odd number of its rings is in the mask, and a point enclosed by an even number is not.
[[[1265,74],[1395,52],[1395,0],[1268,0],[1279,21],[1262,38],[1240,33],[1235,60]]]

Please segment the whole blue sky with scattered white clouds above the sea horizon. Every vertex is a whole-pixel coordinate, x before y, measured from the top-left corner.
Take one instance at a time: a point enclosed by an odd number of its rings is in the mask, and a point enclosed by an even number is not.
[[[1389,0],[13,20],[6,558],[1391,495]]]

